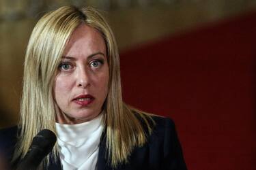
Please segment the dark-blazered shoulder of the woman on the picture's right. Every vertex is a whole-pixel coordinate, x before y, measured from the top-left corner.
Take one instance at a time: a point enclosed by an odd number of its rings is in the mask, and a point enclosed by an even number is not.
[[[150,154],[149,157],[152,158],[150,163],[155,163],[150,166],[156,167],[156,169],[168,169],[165,167],[186,169],[182,146],[180,145],[173,120],[152,114],[147,114],[147,119],[152,120],[153,126],[151,133],[147,133],[147,143],[143,148],[146,148]],[[145,125],[143,126],[145,127]],[[138,149],[137,154],[141,150]]]

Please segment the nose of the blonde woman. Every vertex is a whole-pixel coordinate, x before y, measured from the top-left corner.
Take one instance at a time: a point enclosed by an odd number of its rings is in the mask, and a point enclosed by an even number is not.
[[[90,78],[89,78],[89,73],[86,71],[84,68],[80,68],[77,71],[77,86],[82,87],[82,88],[87,88],[87,86],[90,85]]]

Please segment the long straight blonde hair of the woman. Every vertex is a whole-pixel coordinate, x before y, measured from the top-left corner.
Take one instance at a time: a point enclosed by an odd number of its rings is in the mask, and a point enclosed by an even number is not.
[[[128,163],[132,149],[145,143],[145,131],[152,131],[150,116],[132,109],[122,101],[119,54],[109,24],[91,7],[81,10],[76,7],[60,7],[38,21],[29,39],[20,103],[20,135],[13,160],[25,156],[33,137],[42,129],[50,129],[56,133],[57,107],[53,86],[57,66],[70,35],[81,23],[97,29],[106,43],[110,76],[108,96],[103,109],[106,112],[106,156],[111,167]],[[142,124],[145,124],[146,129]],[[57,160],[56,145],[51,154]],[[49,156],[44,163],[48,165]]]

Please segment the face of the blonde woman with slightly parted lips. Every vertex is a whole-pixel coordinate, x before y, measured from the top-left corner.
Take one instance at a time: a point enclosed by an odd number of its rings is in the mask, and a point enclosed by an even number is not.
[[[57,122],[77,124],[98,116],[108,93],[109,64],[104,39],[96,29],[79,25],[63,52],[55,78]]]

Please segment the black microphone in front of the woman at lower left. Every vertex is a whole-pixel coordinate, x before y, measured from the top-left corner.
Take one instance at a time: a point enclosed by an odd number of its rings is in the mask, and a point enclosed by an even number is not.
[[[53,150],[53,146],[57,137],[55,133],[48,129],[44,129],[33,137],[29,151],[25,154],[24,158],[20,161],[17,170],[35,170],[38,168],[42,159]]]

